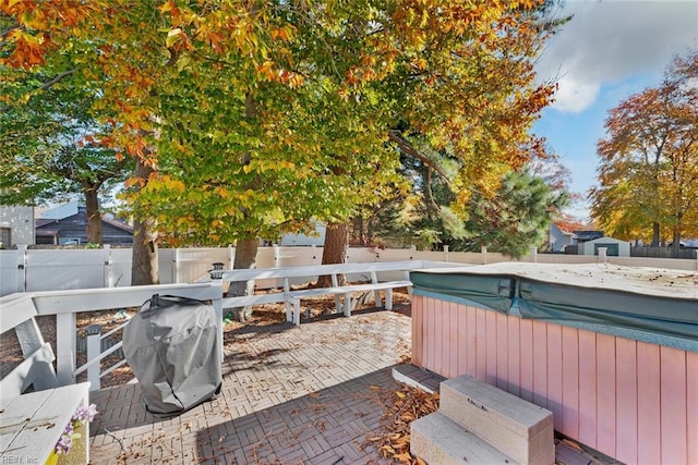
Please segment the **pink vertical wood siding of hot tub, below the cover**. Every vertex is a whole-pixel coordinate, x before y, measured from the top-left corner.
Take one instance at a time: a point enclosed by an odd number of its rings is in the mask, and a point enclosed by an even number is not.
[[[553,412],[627,464],[698,464],[698,353],[414,295],[412,360]]]

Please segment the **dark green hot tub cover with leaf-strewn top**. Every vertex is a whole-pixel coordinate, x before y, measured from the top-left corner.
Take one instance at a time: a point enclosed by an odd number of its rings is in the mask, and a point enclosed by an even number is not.
[[[504,262],[412,271],[410,279],[416,293],[473,302],[522,318],[698,341],[695,271]]]

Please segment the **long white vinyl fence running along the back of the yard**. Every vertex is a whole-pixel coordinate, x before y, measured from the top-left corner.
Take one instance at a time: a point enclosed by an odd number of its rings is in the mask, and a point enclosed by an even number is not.
[[[260,247],[257,268],[320,265],[322,247]],[[232,268],[233,247],[161,248],[159,271],[161,284],[190,283],[208,277],[214,262]],[[520,261],[545,264],[588,264],[604,260],[631,267],[698,270],[698,260],[645,257],[595,257],[585,255],[537,254],[532,250]],[[349,248],[348,262],[433,260],[483,265],[512,261],[510,257],[480,253],[419,252],[408,249]],[[131,285],[131,249],[17,249],[0,250],[0,295],[14,292],[60,291],[69,289],[124,287]],[[276,286],[274,280],[257,282],[257,287]]]

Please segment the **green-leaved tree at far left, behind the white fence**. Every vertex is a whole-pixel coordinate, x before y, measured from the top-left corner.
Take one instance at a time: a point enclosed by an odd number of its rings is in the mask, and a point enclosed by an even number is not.
[[[0,93],[11,102],[2,103],[0,113],[0,204],[37,205],[81,194],[87,240],[100,244],[99,196],[133,169],[129,159],[117,160],[115,150],[101,145],[111,130],[91,115],[94,90],[47,70],[21,78],[2,71]]]

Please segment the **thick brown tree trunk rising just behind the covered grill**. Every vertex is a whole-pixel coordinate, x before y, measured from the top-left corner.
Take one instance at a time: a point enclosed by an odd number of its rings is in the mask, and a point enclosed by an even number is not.
[[[137,159],[135,176],[146,180],[155,170]],[[153,218],[136,218],[133,222],[133,258],[131,265],[131,285],[159,284],[160,273],[157,264],[157,232]]]

